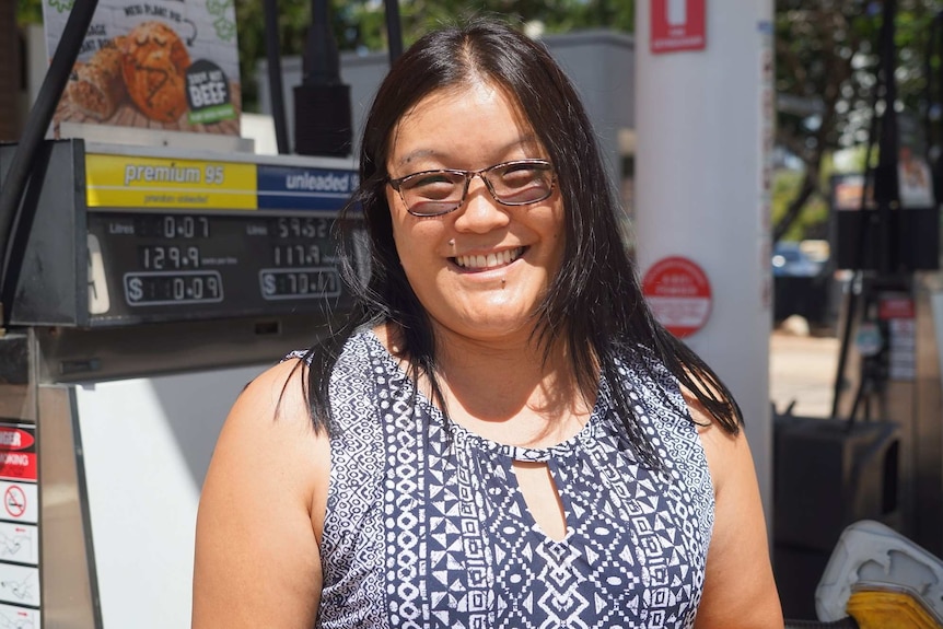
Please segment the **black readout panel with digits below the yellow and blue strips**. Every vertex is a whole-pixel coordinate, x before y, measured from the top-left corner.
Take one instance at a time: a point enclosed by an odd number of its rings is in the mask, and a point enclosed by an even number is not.
[[[333,225],[324,217],[91,211],[90,314],[104,323],[340,304]]]

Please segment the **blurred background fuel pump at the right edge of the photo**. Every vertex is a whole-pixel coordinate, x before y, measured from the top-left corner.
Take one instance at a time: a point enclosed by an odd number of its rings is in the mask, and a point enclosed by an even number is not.
[[[943,330],[936,329],[931,306],[940,290],[940,205],[928,160],[930,138],[898,106],[896,9],[894,0],[884,2],[881,106],[872,117],[870,137],[876,142],[869,142],[869,167],[859,179],[854,209],[833,201],[836,263],[852,280],[831,416],[849,426],[883,420],[900,428],[898,529],[940,555],[943,422],[935,339]],[[874,145],[878,154],[871,166]]]

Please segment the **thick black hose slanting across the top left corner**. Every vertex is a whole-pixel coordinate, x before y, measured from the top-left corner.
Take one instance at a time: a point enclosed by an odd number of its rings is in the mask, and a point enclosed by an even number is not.
[[[62,31],[62,38],[56,46],[49,69],[46,71],[46,78],[43,80],[36,102],[26,118],[23,135],[16,145],[16,151],[13,153],[3,185],[0,187],[0,247],[2,247],[0,248],[0,307],[2,307],[0,314],[3,317],[0,325],[9,321],[12,306],[10,302],[14,287],[7,284],[10,269],[14,264],[12,259],[15,249],[13,238],[16,234],[16,225],[22,220],[20,214],[23,211],[23,191],[30,180],[36,152],[53,121],[56,107],[66,90],[69,75],[75,65],[75,59],[79,57],[79,50],[85,40],[89,24],[92,23],[92,16],[95,14],[97,5],[98,0],[75,0],[72,5],[72,11],[69,13],[69,19]]]

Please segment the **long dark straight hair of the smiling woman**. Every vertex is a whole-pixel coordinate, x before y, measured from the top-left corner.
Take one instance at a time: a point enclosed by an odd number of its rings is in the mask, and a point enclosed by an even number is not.
[[[695,352],[657,324],[645,305],[620,236],[617,216],[621,210],[577,91],[543,45],[492,19],[474,19],[423,36],[397,60],[380,86],[360,149],[360,188],[346,210],[362,210],[371,272],[361,281],[349,252],[341,254],[356,306],[344,327],[307,356],[307,396],[315,429],[329,430],[328,381],[344,342],[359,327],[383,321],[401,330],[410,375],[428,377],[436,401],[444,403],[435,377],[432,327],[393,241],[386,162],[394,129],[404,114],[436,90],[482,79],[516,98],[554,164],[562,195],[566,248],[560,272],[537,313],[542,347],[548,351],[555,343],[564,343],[584,392],[596,389],[599,371],[606,382],[620,382],[619,359],[652,354],[723,429],[736,433],[742,416],[731,393]],[[626,392],[619,386],[610,388],[614,412],[632,445],[656,465]]]

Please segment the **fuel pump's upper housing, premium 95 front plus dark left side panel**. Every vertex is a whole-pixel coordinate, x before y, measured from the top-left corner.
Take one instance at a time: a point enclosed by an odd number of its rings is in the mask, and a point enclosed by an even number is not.
[[[116,327],[350,307],[336,233],[359,184],[350,160],[81,140],[48,149],[25,197],[33,218],[11,322]],[[0,176],[8,158],[0,147]],[[347,220],[356,234],[356,212]],[[365,275],[358,244],[346,246]]]

